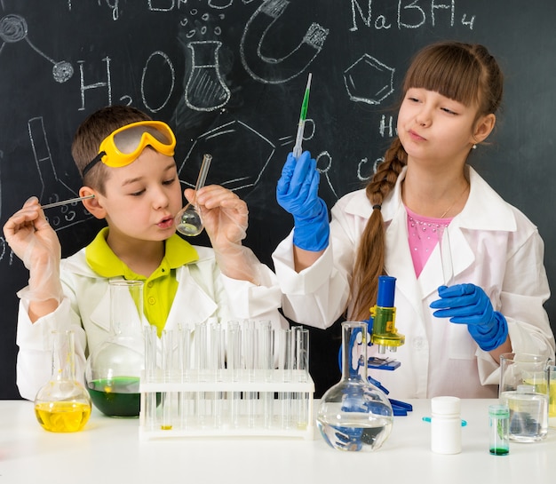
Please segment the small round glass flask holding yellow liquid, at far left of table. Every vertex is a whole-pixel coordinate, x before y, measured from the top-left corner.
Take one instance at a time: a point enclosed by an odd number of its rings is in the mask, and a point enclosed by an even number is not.
[[[77,432],[91,417],[91,398],[75,380],[73,331],[52,331],[52,375],[36,393],[35,415],[50,432]]]

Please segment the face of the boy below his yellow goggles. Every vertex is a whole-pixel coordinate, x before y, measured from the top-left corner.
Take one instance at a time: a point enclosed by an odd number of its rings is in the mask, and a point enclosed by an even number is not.
[[[147,147],[133,163],[110,168],[105,193],[98,194],[98,202],[106,210],[110,237],[163,241],[175,233],[182,197],[173,157]]]

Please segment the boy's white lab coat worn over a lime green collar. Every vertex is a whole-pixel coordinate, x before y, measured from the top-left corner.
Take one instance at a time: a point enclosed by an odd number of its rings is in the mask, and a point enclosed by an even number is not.
[[[210,248],[195,247],[199,260],[179,267],[179,282],[165,329],[203,321],[270,320],[274,329],[288,328],[278,312],[282,293],[274,273],[260,265],[260,285],[220,274]],[[63,259],[60,280],[64,298],[56,311],[35,323],[28,317],[28,301],[20,299],[17,344],[17,385],[23,398],[34,400],[51,371],[50,335],[53,329],[75,331],[75,377],[83,381],[86,355],[109,336],[108,280],[91,270],[85,250]]]

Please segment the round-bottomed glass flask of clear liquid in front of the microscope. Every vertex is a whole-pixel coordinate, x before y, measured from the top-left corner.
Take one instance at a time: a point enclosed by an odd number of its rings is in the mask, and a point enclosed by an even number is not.
[[[367,323],[342,323],[342,379],[322,395],[317,426],[339,450],[376,450],[390,435],[393,409],[367,380]]]

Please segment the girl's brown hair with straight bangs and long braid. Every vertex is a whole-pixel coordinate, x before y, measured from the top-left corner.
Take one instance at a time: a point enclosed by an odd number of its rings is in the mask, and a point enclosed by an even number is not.
[[[465,106],[477,106],[478,120],[496,113],[502,100],[503,83],[496,60],[484,46],[442,42],[417,52],[405,75],[402,93],[405,96],[409,88],[439,92]],[[385,223],[380,206],[392,192],[407,161],[408,155],[396,137],[365,188],[373,211],[361,235],[353,266],[347,317],[354,321],[367,319],[369,308],[377,301],[378,276],[384,274],[385,265]]]

